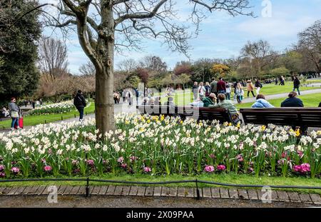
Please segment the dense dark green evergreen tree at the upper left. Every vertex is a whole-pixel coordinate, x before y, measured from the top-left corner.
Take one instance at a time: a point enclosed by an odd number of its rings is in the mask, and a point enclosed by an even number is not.
[[[30,96],[37,88],[37,45],[41,36],[39,11],[27,11],[37,1],[1,0],[0,3],[0,98]]]

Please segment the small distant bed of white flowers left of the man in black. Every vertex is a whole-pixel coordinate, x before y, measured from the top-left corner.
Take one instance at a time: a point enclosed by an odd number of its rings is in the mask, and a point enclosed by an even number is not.
[[[28,115],[44,115],[44,114],[53,114],[53,113],[68,113],[76,109],[73,106],[73,101],[63,101],[57,104],[49,104],[46,106],[36,107],[35,109],[29,111]]]

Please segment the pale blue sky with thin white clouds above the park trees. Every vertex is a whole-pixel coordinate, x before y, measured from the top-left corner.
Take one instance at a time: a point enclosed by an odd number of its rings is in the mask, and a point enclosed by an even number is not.
[[[41,2],[56,0],[41,0]],[[264,0],[268,1],[268,0]],[[191,6],[187,0],[176,0],[179,9],[180,21],[185,21]],[[200,58],[227,59],[238,56],[240,49],[248,41],[264,39],[270,42],[277,51],[282,51],[297,41],[297,33],[304,30],[314,21],[321,19],[321,0],[270,0],[272,16],[264,17],[263,0],[252,0],[251,4],[255,16],[232,17],[225,12],[208,14],[208,18],[200,24],[200,34],[197,38],[190,39],[192,49],[189,51],[192,61]],[[192,31],[193,29],[190,29]],[[49,34],[49,29],[44,34]],[[59,35],[56,36],[59,38]],[[71,34],[68,45],[68,69],[72,74],[78,74],[78,68],[88,59],[78,44],[76,34]],[[141,59],[143,56],[156,55],[165,61],[169,68],[173,68],[178,61],[188,60],[183,54],[168,51],[161,46],[161,41],[143,41],[143,51],[123,51],[124,55],[115,56],[115,64],[124,59]]]

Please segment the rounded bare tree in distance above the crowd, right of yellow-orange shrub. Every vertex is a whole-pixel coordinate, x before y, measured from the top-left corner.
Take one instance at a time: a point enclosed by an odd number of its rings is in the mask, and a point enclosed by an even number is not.
[[[244,59],[248,59],[251,74],[253,76],[260,75],[263,68],[276,61],[277,54],[273,51],[272,46],[267,41],[260,40],[243,46],[241,55]]]

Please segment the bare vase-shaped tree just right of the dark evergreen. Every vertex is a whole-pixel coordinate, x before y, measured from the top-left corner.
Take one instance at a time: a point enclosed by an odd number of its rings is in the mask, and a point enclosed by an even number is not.
[[[39,66],[42,73],[48,73],[51,79],[66,74],[67,48],[62,41],[41,36],[39,41]]]

